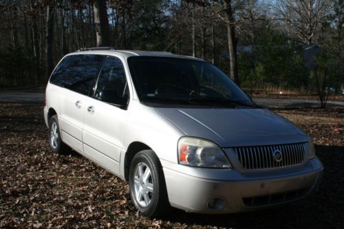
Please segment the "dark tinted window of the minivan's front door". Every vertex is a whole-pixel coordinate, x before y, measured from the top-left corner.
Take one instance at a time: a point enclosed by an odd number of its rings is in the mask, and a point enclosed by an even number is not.
[[[108,56],[100,72],[94,98],[123,105],[127,101],[127,80],[122,61]]]

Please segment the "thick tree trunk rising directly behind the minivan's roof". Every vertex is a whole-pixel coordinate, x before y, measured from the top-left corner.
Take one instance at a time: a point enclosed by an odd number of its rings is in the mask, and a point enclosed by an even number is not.
[[[94,24],[96,25],[97,47],[110,46],[109,20],[105,0],[95,0],[93,3]]]

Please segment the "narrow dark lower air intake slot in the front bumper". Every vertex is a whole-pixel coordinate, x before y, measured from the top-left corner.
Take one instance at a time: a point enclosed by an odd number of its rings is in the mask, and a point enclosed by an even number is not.
[[[280,204],[287,201],[292,201],[305,197],[307,195],[308,189],[294,190],[286,193],[276,193],[272,195],[264,195],[259,197],[246,197],[242,200],[246,206],[264,206],[269,204]]]

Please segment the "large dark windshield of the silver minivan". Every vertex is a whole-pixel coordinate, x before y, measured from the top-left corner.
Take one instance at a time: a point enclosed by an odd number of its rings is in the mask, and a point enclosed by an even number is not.
[[[131,56],[128,64],[142,102],[213,107],[256,107],[226,74],[206,61]]]

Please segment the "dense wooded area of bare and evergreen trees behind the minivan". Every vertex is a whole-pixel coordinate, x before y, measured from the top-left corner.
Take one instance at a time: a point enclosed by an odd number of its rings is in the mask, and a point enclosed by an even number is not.
[[[204,58],[249,89],[336,91],[343,8],[343,0],[0,0],[0,86],[44,85],[63,55],[99,45]]]

